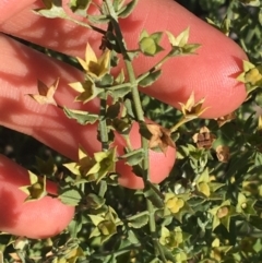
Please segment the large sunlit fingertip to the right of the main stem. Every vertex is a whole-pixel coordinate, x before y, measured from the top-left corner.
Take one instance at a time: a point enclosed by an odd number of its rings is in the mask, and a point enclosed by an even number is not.
[[[162,68],[160,77],[141,92],[176,108],[194,92],[196,101],[205,98],[204,118],[227,115],[246,99],[246,87],[236,80],[242,72],[242,60],[248,60],[243,50],[175,1],[166,0],[165,4],[157,0],[140,1],[135,12],[122,21],[121,26],[131,49],[136,47],[142,29],[148,33],[169,31],[177,36],[189,27],[189,44],[201,45],[196,55],[168,60]],[[170,50],[166,36],[162,46],[165,52]],[[146,72],[163,57],[164,52],[153,59],[140,56],[134,60],[136,74]]]

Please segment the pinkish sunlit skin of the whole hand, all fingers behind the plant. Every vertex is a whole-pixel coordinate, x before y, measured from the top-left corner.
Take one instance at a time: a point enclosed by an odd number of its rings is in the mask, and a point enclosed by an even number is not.
[[[67,7],[67,2],[63,3]],[[98,34],[71,22],[37,16],[31,10],[39,7],[40,1],[34,0],[0,1],[0,31],[81,58],[84,58],[88,39],[98,55]],[[136,47],[136,39],[143,28],[150,33],[169,31],[177,35],[190,27],[189,41],[202,45],[198,56],[168,61],[163,68],[160,79],[142,92],[179,107],[179,103],[186,103],[194,91],[196,101],[205,97],[204,107],[210,107],[202,116],[204,118],[229,113],[245,100],[245,86],[235,80],[242,71],[241,61],[247,59],[245,52],[229,38],[176,2],[141,0],[132,15],[121,21],[121,27],[130,49]],[[162,45],[168,49],[166,38]],[[81,127],[67,119],[60,109],[50,105],[38,105],[26,96],[37,93],[37,80],[50,85],[59,76],[59,87],[55,96],[59,105],[97,112],[97,100],[84,106],[73,103],[76,94],[68,88],[68,83],[82,81],[83,73],[47,58],[7,35],[0,35],[0,112],[4,112],[1,113],[0,124],[29,134],[74,160],[78,160],[79,145],[88,154],[100,151],[95,125]],[[147,70],[162,56],[136,59],[136,74]],[[133,147],[140,147],[140,135],[135,125],[131,131],[131,144]],[[122,152],[124,143],[121,138],[117,138],[116,145],[119,153]],[[166,178],[175,158],[176,151],[170,147],[166,155],[150,153],[153,182],[160,182]],[[117,168],[122,175],[119,179],[122,186],[143,188],[142,180],[124,164],[118,164]],[[35,203],[24,203],[25,195],[17,188],[28,183],[27,172],[4,156],[0,156],[0,183],[2,231],[29,238],[46,238],[60,232],[73,217],[74,208],[61,204],[56,199],[44,198]],[[55,193],[56,186],[49,182],[48,190]]]

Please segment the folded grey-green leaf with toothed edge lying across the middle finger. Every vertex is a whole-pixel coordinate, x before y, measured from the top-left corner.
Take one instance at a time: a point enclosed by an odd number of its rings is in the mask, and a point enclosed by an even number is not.
[[[76,120],[78,123],[85,125],[87,123],[95,123],[99,116],[98,115],[92,115],[87,111],[83,110],[75,110],[75,109],[68,109],[67,107],[63,107],[63,111],[66,112],[67,117],[69,119]]]

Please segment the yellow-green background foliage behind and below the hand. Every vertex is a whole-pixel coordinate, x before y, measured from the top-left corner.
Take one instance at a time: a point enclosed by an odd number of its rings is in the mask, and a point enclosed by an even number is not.
[[[243,48],[251,63],[260,65],[262,2],[178,2],[203,20],[209,19]],[[126,12],[119,9],[119,15]],[[141,39],[140,44],[145,45],[142,46],[144,53],[151,56],[159,51],[157,37],[146,35]],[[146,43],[155,45],[155,50]],[[41,51],[76,64],[75,59]],[[145,116],[163,127],[169,129],[181,120],[180,111],[146,95],[141,97]],[[148,183],[143,191],[133,191],[117,186],[116,175],[103,178],[97,184],[92,183],[97,178],[88,177],[81,186],[80,174],[81,187],[71,189],[68,186],[73,177],[69,177],[61,186],[61,196],[66,202],[78,204],[69,228],[41,241],[1,235],[0,262],[262,262],[261,106],[261,86],[257,86],[233,115],[218,120],[194,119],[179,127],[172,134],[178,151],[176,166],[159,186]],[[82,116],[82,112],[67,112],[78,120]],[[83,121],[88,122],[90,118]],[[127,127],[129,123],[124,122],[124,131]],[[1,153],[35,171],[43,168],[39,159],[38,168],[35,167],[36,155],[43,159],[52,155],[59,169],[64,170],[61,164],[67,163],[35,140],[4,128],[1,128],[0,148]],[[129,155],[130,162],[140,162],[140,156],[141,152]],[[94,159],[85,153],[81,152],[80,157],[86,166],[97,168],[103,177],[103,167],[111,168],[115,158],[114,154],[110,158],[97,156],[99,162],[96,159],[95,166]]]

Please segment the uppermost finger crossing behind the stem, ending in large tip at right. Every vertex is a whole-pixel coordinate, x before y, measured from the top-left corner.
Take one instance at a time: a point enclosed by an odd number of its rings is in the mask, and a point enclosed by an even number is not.
[[[10,20],[3,31],[82,57],[87,39],[94,47],[99,46],[97,34],[83,28],[78,32],[78,26],[69,22],[37,17],[28,10],[19,17],[24,22],[22,25]],[[57,28],[56,37],[53,25]],[[141,89],[142,92],[179,108],[179,103],[186,103],[194,91],[196,100],[205,98],[204,107],[209,107],[202,116],[205,118],[229,113],[245,100],[245,85],[236,81],[236,76],[242,71],[241,61],[247,59],[245,52],[233,40],[172,0],[165,0],[165,3],[158,0],[139,1],[135,11],[121,22],[121,27],[130,49],[136,48],[142,29],[150,33],[169,31],[177,35],[190,27],[189,41],[202,45],[196,56],[169,60],[163,67],[160,79],[151,87]],[[75,37],[72,38],[74,34]],[[166,38],[163,46],[169,48]],[[136,74],[148,70],[160,56],[154,59],[135,59]]]

